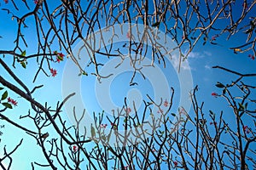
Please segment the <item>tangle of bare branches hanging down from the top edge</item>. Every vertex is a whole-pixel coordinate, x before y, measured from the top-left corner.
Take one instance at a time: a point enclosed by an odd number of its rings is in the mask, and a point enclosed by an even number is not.
[[[230,39],[233,36],[244,34],[247,39],[241,42],[239,47],[230,47],[234,52],[253,51],[255,56],[255,1],[64,1],[55,4],[46,0],[35,1],[34,7],[23,1],[24,4],[12,1],[18,10],[27,11],[19,16],[15,11],[3,8],[12,19],[17,21],[15,48],[13,50],[0,50],[0,54],[13,55],[15,62],[36,58],[38,72],[48,75],[51,62],[55,61],[53,51],[63,50],[73,62],[79,66],[81,73],[84,72],[79,63],[79,57],[73,51],[74,47],[83,42],[82,47],[90,54],[90,65],[94,65],[91,74],[99,79],[107,78],[109,75],[102,75],[100,67],[102,58],[119,57],[124,59],[123,50],[131,60],[131,66],[135,73],[143,73],[137,64],[141,63],[147,54],[151,55],[151,61],[163,62],[172,51],[178,49],[180,63],[186,59],[197,43],[211,42],[218,44],[218,37],[226,36]],[[25,6],[24,6],[25,5]],[[238,11],[237,8],[240,7]],[[33,8],[33,9],[31,9]],[[249,20],[249,21],[248,21]],[[248,22],[248,23],[247,23]],[[26,23],[34,26],[30,28]],[[221,23],[221,24],[219,24]],[[128,30],[122,26],[128,24]],[[143,25],[143,30],[132,31],[134,24]],[[127,43],[123,48],[117,48],[113,42],[120,38],[113,26],[119,26],[122,34],[126,35]],[[26,39],[26,29],[34,31],[33,42]],[[103,29],[113,29],[110,38],[106,40],[103,36]],[[127,28],[126,28],[127,29]],[[135,28],[138,29],[138,28]],[[170,37],[177,47],[166,48],[159,40],[159,31]],[[98,35],[98,36],[96,36]],[[166,37],[160,37],[165,39]],[[96,38],[96,39],[95,39]],[[37,43],[35,43],[37,42]],[[109,44],[110,42],[110,44]],[[106,44],[109,44],[107,47]],[[151,44],[151,45],[149,45]],[[26,48],[34,48],[33,54],[22,55]],[[127,55],[126,55],[127,54]],[[134,57],[132,57],[134,56]],[[44,67],[44,65],[47,65]],[[85,72],[87,72],[85,68]],[[86,73],[87,74],[87,73]],[[133,76],[133,77],[134,77]],[[132,77],[132,78],[133,78]],[[132,82],[132,81],[131,81]]]

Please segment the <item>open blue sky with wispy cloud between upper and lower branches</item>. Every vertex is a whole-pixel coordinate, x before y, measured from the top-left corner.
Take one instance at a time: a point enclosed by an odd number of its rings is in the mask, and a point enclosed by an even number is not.
[[[33,5],[31,3],[31,5]],[[238,10],[240,9],[240,5],[237,6]],[[11,8],[10,4],[3,4],[1,8]],[[20,10],[20,14],[22,14],[22,10]],[[1,16],[6,16],[5,11],[0,11]],[[253,14],[252,14],[253,16]],[[255,14],[254,14],[255,16]],[[14,48],[14,39],[15,39],[15,30],[16,25],[14,24],[15,21],[11,20],[10,17],[4,17],[4,20],[0,20],[0,34],[3,36],[0,38],[0,49],[12,49]],[[28,23],[31,23],[31,21],[28,21]],[[221,22],[219,23],[221,24]],[[28,24],[29,25],[29,24]],[[30,36],[29,31],[33,31],[33,28],[28,28],[27,30],[24,30],[27,37],[26,39],[29,42],[33,42],[33,37]],[[214,36],[215,33],[212,33],[209,36]],[[199,44],[195,47],[192,53],[189,54],[189,59],[185,61],[182,65],[182,71],[191,71],[192,75],[192,85],[199,85],[199,92],[198,92],[198,100],[199,101],[206,101],[204,108],[206,109],[206,112],[208,110],[212,110],[215,112],[219,111],[226,111],[229,112],[230,108],[228,108],[228,105],[226,102],[224,102],[224,99],[216,99],[212,97],[212,92],[221,93],[221,91],[215,87],[216,82],[224,82],[229,83],[232,80],[235,80],[236,76],[231,75],[228,72],[220,71],[218,69],[212,69],[213,65],[220,65],[223,67],[226,67],[233,71],[238,71],[241,73],[256,73],[256,60],[250,59],[248,57],[247,53],[243,54],[234,54],[233,50],[230,50],[229,48],[239,45],[240,42],[244,41],[245,35],[244,33],[237,34],[234,37],[231,37],[229,41],[225,39],[225,37],[218,37],[217,41],[218,44],[213,46],[207,42],[205,46],[202,45],[202,42],[199,42]],[[119,45],[119,44],[117,44]],[[24,48],[24,47],[22,47]],[[57,48],[57,47],[56,47]],[[185,50],[185,49],[184,49]],[[32,54],[34,52],[34,48],[29,47],[26,48],[27,54]],[[3,59],[2,56],[0,56],[1,59]],[[9,65],[12,63],[11,56],[6,56],[4,58],[4,61],[7,62]],[[73,70],[73,72],[70,72],[71,69],[67,67],[71,62],[71,59],[64,59],[63,62],[60,64],[54,63],[51,66],[55,68],[58,71],[58,74],[56,77],[45,77],[43,73],[40,73],[38,76],[38,79],[35,83],[32,83],[32,79],[35,75],[35,71],[37,71],[37,64],[33,62],[32,60],[28,61],[28,65],[26,69],[23,69],[20,65],[16,65],[16,69],[14,69],[15,74],[20,77],[20,79],[26,83],[26,85],[29,88],[33,88],[34,86],[38,86],[41,84],[44,84],[44,88],[38,89],[35,94],[33,94],[33,97],[35,99],[38,99],[40,102],[48,102],[49,105],[52,105],[53,107],[56,105],[57,101],[63,99],[63,94],[65,94],[65,83],[70,82],[71,84],[74,81],[80,81],[76,82],[75,87],[78,86],[80,89],[79,95],[82,96],[82,103],[81,105],[85,105],[86,111],[91,114],[93,111],[99,112],[103,110],[106,110],[106,108],[102,108],[105,106],[100,106],[99,101],[101,99],[108,98],[108,96],[111,96],[113,99],[113,103],[117,107],[122,107],[124,96],[130,96],[131,99],[145,99],[146,94],[152,94],[158,96],[159,94],[163,94],[166,96],[163,96],[163,99],[166,99],[168,97],[168,93],[166,91],[163,91],[161,88],[161,84],[152,85],[151,83],[157,84],[158,78],[160,78],[160,75],[150,77],[151,75],[148,74],[148,79],[143,80],[142,77],[138,76],[137,81],[141,82],[137,87],[131,87],[129,86],[130,77],[131,77],[131,71],[120,71],[120,74],[117,74],[116,77],[113,78],[113,82],[111,82],[111,86],[109,88],[109,93],[106,94],[105,91],[100,90],[100,88],[97,88],[100,86],[96,82],[96,77],[89,76],[89,77],[75,77],[74,79],[67,80],[67,75],[65,75],[65,71],[69,71],[69,73],[73,76],[78,75],[78,71]],[[163,77],[166,77],[166,81],[168,82],[168,85],[173,86],[177,89],[177,93],[175,95],[176,99],[180,99],[180,84],[177,74],[177,59],[172,60],[172,64],[170,62],[167,62],[167,68],[164,69],[162,65],[156,65],[160,72],[163,73]],[[103,68],[102,68],[103,69]],[[90,70],[89,70],[90,71]],[[151,72],[152,73],[152,72]],[[6,77],[9,82],[14,82],[5,71],[1,70],[1,76]],[[159,77],[158,77],[159,76]],[[151,78],[151,79],[150,79]],[[67,82],[65,82],[67,81]],[[104,81],[104,80],[103,80]],[[248,82],[255,84],[256,80],[250,79]],[[64,84],[63,84],[64,83]],[[103,82],[104,83],[104,82]],[[106,82],[107,83],[107,82]],[[185,83],[185,82],[180,82]],[[63,90],[64,87],[64,90]],[[159,88],[160,87],[160,88]],[[166,89],[166,88],[164,88]],[[98,96],[96,96],[99,93]],[[20,121],[19,117],[20,115],[25,116],[27,114],[27,111],[29,108],[29,104],[25,102],[23,99],[20,99],[17,94],[11,93],[9,91],[10,96],[12,98],[16,99],[18,101],[18,106],[15,107],[14,110],[6,111],[6,115],[9,117],[12,117],[14,120]],[[136,95],[136,98],[134,98],[134,95]],[[186,97],[188,98],[189,102],[189,94]],[[73,104],[72,102],[78,103],[75,99],[71,99],[70,103],[68,105]],[[139,102],[139,101],[138,101]],[[131,105],[131,102],[130,104]],[[174,108],[176,108],[174,105]],[[81,111],[84,109],[79,108]],[[116,109],[116,108],[115,108]],[[79,111],[80,111],[79,110]],[[78,111],[78,112],[79,112]],[[68,111],[67,111],[68,112]],[[64,112],[63,116],[69,120],[70,124],[72,124],[72,118],[70,117],[71,114]],[[175,112],[175,109],[174,109]],[[68,119],[69,117],[69,119]],[[224,114],[224,118],[229,119],[230,116],[227,114]],[[32,122],[23,121],[24,125],[28,127],[33,127]],[[2,141],[0,143],[0,150],[2,150],[3,145],[7,144],[7,148],[9,150],[13,149],[16,144],[20,142],[20,139],[24,138],[26,133],[21,133],[20,130],[17,130],[15,127],[0,122],[0,124],[5,124],[5,129],[3,129],[3,136],[1,137]],[[49,132],[50,138],[55,138],[56,134],[52,132],[52,130],[46,128],[44,129],[45,132]],[[26,135],[27,136],[27,135]],[[39,147],[32,147],[32,145],[35,145],[36,141],[32,139],[32,137],[28,136],[27,138],[24,138],[23,144],[21,147],[15,152],[14,154],[14,164],[13,169],[29,169],[31,167],[30,162],[31,161],[39,161],[39,162],[45,162],[44,159],[42,159],[42,153]],[[0,151],[1,153],[1,151]],[[0,154],[0,156],[2,156]],[[39,168],[37,168],[39,169]]]

